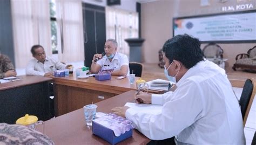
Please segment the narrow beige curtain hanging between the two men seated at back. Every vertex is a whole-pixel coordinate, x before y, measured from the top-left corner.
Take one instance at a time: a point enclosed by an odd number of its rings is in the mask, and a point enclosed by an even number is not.
[[[84,60],[83,12],[81,0],[56,1],[57,25],[61,48],[58,58],[64,62]]]

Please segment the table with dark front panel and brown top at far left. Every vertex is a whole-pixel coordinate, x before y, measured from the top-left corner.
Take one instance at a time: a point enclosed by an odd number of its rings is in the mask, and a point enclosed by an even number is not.
[[[25,114],[48,120],[49,88],[52,78],[41,76],[18,76],[22,80],[0,84],[0,122],[15,123]]]

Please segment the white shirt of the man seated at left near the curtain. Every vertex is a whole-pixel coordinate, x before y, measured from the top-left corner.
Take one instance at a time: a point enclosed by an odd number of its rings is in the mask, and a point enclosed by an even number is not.
[[[46,57],[44,63],[41,63],[37,59],[31,59],[28,66],[26,66],[26,74],[28,75],[44,75],[48,72],[56,70],[64,70],[66,65],[60,63],[59,60],[51,57]]]

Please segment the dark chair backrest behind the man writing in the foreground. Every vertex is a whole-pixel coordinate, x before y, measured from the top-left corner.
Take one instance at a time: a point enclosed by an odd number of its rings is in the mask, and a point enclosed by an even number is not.
[[[252,101],[255,96],[256,86],[254,85],[254,79],[247,79],[245,85],[242,88],[241,98],[239,100],[241,106],[242,120],[244,121],[244,126],[250,112]]]

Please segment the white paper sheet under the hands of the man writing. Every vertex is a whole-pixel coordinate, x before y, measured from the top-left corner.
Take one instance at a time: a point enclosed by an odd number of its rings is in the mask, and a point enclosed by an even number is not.
[[[138,112],[148,113],[148,114],[159,114],[162,111],[162,105],[154,105],[154,104],[145,104],[145,103],[131,103],[127,102],[125,106],[136,109]]]

